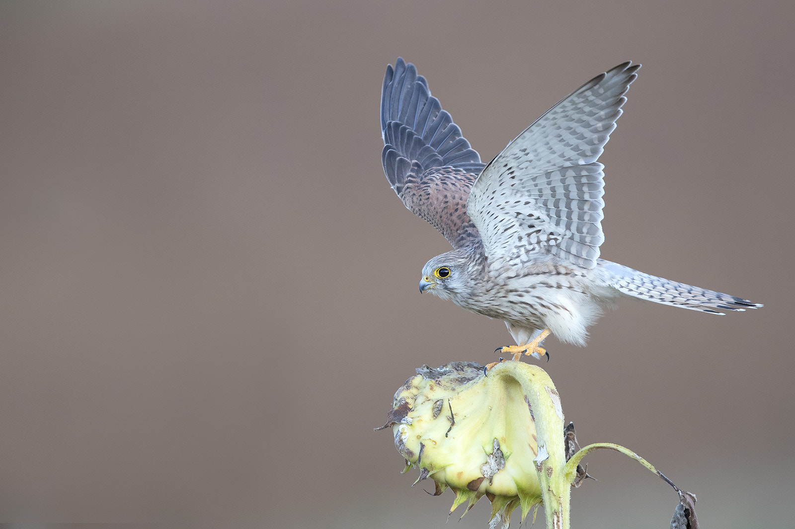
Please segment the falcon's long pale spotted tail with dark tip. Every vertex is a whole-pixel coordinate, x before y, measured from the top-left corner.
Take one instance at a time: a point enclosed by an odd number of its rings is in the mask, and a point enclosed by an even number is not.
[[[725,313],[715,309],[745,311],[747,308],[762,307],[761,303],[751,303],[748,299],[738,298],[734,295],[650,276],[610,261],[601,262],[608,274],[608,284],[619,292],[635,298],[717,315]]]

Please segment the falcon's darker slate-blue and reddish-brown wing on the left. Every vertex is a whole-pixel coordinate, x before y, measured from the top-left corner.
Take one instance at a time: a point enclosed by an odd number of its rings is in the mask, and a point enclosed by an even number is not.
[[[401,58],[386,67],[381,132],[384,173],[405,207],[456,248],[477,237],[467,197],[485,164],[431,95],[425,77]]]

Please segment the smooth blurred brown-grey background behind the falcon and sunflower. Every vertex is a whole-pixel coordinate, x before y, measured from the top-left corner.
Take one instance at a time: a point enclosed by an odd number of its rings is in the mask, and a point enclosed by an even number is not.
[[[644,65],[601,158],[603,257],[766,307],[625,301],[544,368],[580,444],[637,451],[703,527],[791,527],[791,2],[0,9],[0,521],[447,527],[452,492],[373,428],[415,368],[511,341],[417,292],[450,247],[381,168],[403,56],[483,160]],[[572,527],[668,527],[668,485],[587,461]]]

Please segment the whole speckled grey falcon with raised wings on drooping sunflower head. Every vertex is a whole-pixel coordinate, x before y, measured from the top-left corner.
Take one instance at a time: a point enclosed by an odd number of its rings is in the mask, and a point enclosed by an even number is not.
[[[762,307],[599,258],[604,166],[596,160],[638,68],[626,62],[597,75],[483,164],[417,68],[401,58],[386,67],[386,178],[454,248],[425,264],[420,290],[502,319],[518,345],[501,350],[514,360],[544,354],[550,332],[583,346],[601,309],[622,296],[710,314]]]

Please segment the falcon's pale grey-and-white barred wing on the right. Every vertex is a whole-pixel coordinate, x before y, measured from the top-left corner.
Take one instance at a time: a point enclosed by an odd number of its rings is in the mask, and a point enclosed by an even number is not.
[[[599,257],[604,166],[640,64],[619,64],[572,92],[499,153],[471,189],[468,211],[490,261],[551,254],[586,268]]]

